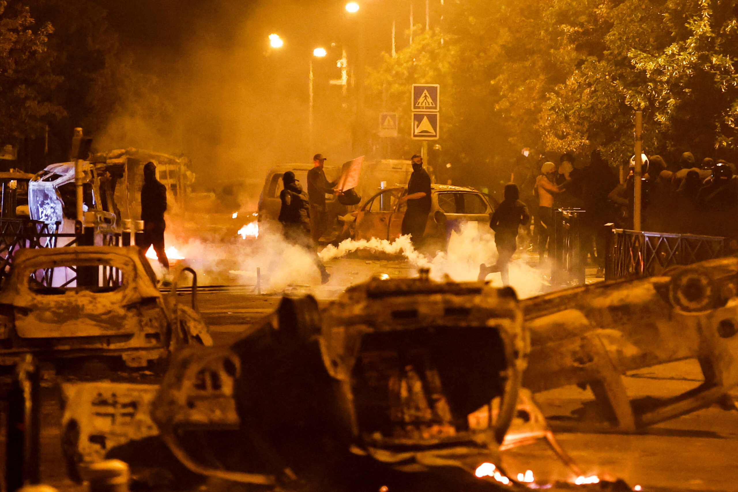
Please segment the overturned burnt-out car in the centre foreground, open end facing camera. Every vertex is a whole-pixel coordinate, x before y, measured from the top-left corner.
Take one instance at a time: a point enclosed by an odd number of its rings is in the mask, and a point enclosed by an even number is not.
[[[427,271],[370,280],[323,310],[285,298],[230,350],[180,351],[152,416],[201,474],[436,490],[443,480],[407,472],[440,467],[475,490],[475,469],[495,460],[514,417],[527,354],[510,288],[436,283]]]

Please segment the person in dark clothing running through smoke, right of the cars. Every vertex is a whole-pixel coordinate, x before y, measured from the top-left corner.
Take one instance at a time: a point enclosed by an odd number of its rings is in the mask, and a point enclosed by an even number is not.
[[[508,263],[517,249],[517,229],[531,223],[528,207],[525,207],[525,204],[518,198],[520,198],[520,191],[517,189],[517,184],[506,184],[505,199],[494,211],[489,221],[489,227],[494,231],[494,244],[497,246],[497,263],[493,266],[486,266],[482,263],[479,266],[478,280],[480,282],[483,282],[488,274],[499,271],[503,277],[503,285],[510,283]]]

